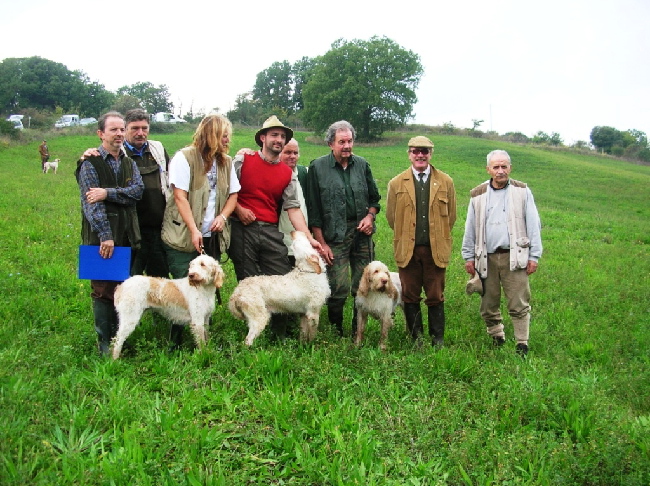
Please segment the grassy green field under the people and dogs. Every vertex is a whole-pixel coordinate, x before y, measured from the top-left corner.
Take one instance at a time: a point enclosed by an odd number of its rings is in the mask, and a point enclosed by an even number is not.
[[[303,164],[326,146],[302,141]],[[170,154],[191,134],[157,138]],[[382,195],[408,165],[407,135],[356,147]],[[118,362],[96,355],[89,284],[76,278],[77,156],[94,136],[0,147],[0,484],[650,484],[650,167],[489,140],[434,136],[459,219],[447,273],[446,346],[414,349],[403,315],[376,345],[330,330],[313,345],[263,335],[216,309],[206,349],[167,353],[151,317]],[[235,133],[234,153],[253,144]],[[508,150],[529,183],[544,256],[531,279],[527,360],[494,349],[464,293],[468,191]],[[395,269],[377,218],[377,257]],[[225,299],[235,284],[232,265]],[[350,303],[346,309],[348,320]]]

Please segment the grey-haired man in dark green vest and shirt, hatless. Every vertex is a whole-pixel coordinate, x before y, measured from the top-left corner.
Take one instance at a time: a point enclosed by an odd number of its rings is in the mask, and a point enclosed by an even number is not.
[[[313,160],[307,173],[309,225],[329,265],[327,313],[340,335],[345,301],[350,292],[356,295],[363,269],[374,259],[372,234],[381,199],[370,165],[352,153],[355,135],[347,121],[330,125],[325,141],[332,151]],[[355,309],[353,336],[356,327]]]

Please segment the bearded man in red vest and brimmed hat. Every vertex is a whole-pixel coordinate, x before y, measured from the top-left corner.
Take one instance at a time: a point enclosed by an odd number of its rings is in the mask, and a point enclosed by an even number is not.
[[[298,199],[298,178],[280,162],[293,130],[278,118],[269,117],[255,134],[260,150],[237,155],[233,167],[241,189],[231,220],[228,255],[235,266],[237,280],[255,275],[284,275],[291,270],[283,234],[278,229],[280,209],[284,209],[297,231],[304,232],[314,248],[321,245],[311,237]],[[286,316],[274,314],[271,329],[284,337]]]

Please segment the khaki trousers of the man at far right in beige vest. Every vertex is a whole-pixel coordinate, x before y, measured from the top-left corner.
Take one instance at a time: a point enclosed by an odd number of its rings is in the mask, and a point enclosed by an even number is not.
[[[485,294],[481,298],[481,317],[491,336],[503,337],[503,318],[501,316],[501,288],[506,297],[508,314],[512,318],[515,339],[518,343],[528,343],[530,324],[530,285],[525,269],[510,270],[508,253],[488,255],[487,278],[483,281]]]

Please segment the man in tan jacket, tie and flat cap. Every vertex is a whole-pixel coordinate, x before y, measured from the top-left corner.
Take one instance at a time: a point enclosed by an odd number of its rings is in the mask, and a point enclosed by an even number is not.
[[[434,346],[444,344],[445,271],[451,259],[451,230],[456,222],[454,181],[431,165],[433,143],[413,137],[411,166],[388,183],[386,219],[394,233],[393,251],[402,282],[406,324],[414,341],[423,333],[421,293],[427,306]]]

